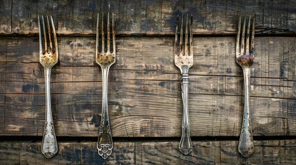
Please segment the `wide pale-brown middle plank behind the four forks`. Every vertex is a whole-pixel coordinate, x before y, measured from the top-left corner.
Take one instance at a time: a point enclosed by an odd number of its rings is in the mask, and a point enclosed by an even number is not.
[[[179,137],[181,89],[172,37],[119,37],[110,70],[109,108],[115,137]],[[234,37],[196,37],[190,69],[193,136],[239,136],[244,106]],[[42,135],[45,115],[38,39],[3,40],[0,56],[0,135]],[[296,135],[296,39],[255,38],[250,104],[253,133]],[[97,137],[101,70],[95,39],[59,39],[52,69],[52,110],[59,136]]]

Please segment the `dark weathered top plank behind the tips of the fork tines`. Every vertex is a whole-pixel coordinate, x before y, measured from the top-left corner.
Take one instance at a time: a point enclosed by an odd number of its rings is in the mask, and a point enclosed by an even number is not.
[[[38,14],[51,14],[59,34],[95,34],[97,12],[109,1],[1,0],[0,34],[37,34]],[[110,1],[117,34],[173,34],[177,14],[193,14],[194,34],[235,34],[239,13],[256,12],[258,34],[296,31],[296,1]]]

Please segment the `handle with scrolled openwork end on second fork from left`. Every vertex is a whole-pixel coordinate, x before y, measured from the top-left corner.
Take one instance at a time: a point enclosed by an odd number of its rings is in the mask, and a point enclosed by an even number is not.
[[[103,76],[103,99],[102,99],[102,114],[101,126],[99,129],[99,139],[97,142],[98,154],[106,159],[112,153],[113,142],[110,130],[109,115],[108,115],[108,72],[109,67],[101,67]]]

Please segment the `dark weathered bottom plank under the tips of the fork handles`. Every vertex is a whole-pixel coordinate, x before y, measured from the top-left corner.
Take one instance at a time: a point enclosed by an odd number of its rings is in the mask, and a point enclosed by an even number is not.
[[[296,140],[255,141],[248,158],[237,152],[237,141],[193,142],[183,155],[178,142],[115,142],[112,155],[97,155],[95,142],[59,142],[52,159],[40,152],[40,142],[0,142],[1,164],[295,164]]]

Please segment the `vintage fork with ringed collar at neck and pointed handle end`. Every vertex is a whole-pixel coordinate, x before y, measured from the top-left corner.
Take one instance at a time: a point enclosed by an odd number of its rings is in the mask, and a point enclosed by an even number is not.
[[[179,67],[181,71],[181,89],[182,89],[182,100],[183,100],[183,119],[182,119],[182,136],[179,143],[179,151],[187,155],[192,151],[193,145],[190,139],[190,124],[189,124],[189,112],[188,112],[188,70],[193,66],[193,16],[190,17],[190,41],[188,43],[188,15],[186,17],[186,28],[185,28],[185,39],[183,39],[183,15],[181,18],[181,30],[178,31],[179,27],[179,15],[177,16],[176,33],[175,33],[175,65]],[[178,39],[179,34],[179,39]],[[183,44],[185,40],[185,44]],[[179,43],[178,43],[179,42]],[[188,54],[188,49],[189,54]]]

